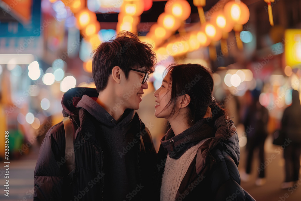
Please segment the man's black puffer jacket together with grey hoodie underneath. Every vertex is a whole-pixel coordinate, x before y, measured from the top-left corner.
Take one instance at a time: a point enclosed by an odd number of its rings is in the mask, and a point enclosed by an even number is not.
[[[67,177],[65,159],[69,156],[65,155],[65,130],[60,122],[49,129],[41,145],[34,200],[93,201],[118,196],[151,200],[157,157],[147,128],[135,110],[126,109],[117,123],[100,105],[93,107],[97,103],[88,96],[96,100],[98,93],[94,88],[73,88],[62,99],[63,115],[70,116],[75,131],[73,180]]]

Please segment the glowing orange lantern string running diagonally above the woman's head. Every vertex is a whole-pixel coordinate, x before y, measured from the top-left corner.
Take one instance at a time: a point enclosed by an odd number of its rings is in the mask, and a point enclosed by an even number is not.
[[[156,48],[158,61],[167,58],[168,55],[182,55],[209,45],[210,58],[216,59],[216,51],[213,51],[215,50],[214,42],[221,40],[221,46],[227,47],[226,39],[228,32],[232,29],[235,31],[237,47],[242,49],[243,45],[239,35],[242,25],[247,23],[249,17],[250,11],[247,5],[241,1],[230,1],[225,4],[223,11],[215,11],[209,21],[201,23],[199,31],[192,31]],[[228,55],[228,51],[224,53]]]

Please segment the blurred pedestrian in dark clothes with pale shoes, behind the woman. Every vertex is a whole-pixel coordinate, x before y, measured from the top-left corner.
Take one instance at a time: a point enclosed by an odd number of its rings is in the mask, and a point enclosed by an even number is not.
[[[259,168],[258,178],[255,184],[261,186],[265,184],[265,168],[262,168],[262,164],[265,164],[264,159],[264,143],[268,136],[268,110],[262,106],[259,102],[260,91],[253,90],[252,97],[253,102],[247,108],[244,127],[247,133],[247,160],[246,170],[241,174],[242,181],[248,181],[251,173],[253,154],[255,149],[259,149]]]

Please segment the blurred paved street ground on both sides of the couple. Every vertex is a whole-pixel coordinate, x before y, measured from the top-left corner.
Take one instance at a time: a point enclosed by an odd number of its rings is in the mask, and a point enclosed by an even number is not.
[[[299,184],[296,184],[293,189],[282,190],[280,189],[281,182],[284,179],[284,161],[282,159],[282,150],[275,151],[278,146],[272,146],[271,140],[268,139],[265,145],[265,158],[272,158],[275,155],[275,159],[267,161],[269,164],[266,166],[266,178],[267,182],[262,187],[255,185],[257,177],[256,166],[259,162],[257,160],[253,163],[253,171],[249,182],[241,182],[241,186],[247,190],[256,200],[260,201],[299,201],[301,200],[301,188]],[[9,197],[4,195],[5,184],[5,172],[3,171],[4,163],[0,162],[0,200],[1,201],[26,201],[33,200],[33,171],[36,165],[36,158],[38,149],[32,150],[32,152],[17,161],[11,161],[9,165]],[[256,155],[256,154],[254,154]],[[243,171],[245,164],[245,152],[244,148],[241,149],[239,170]],[[300,182],[301,184],[301,179]],[[286,196],[286,197],[285,197]]]

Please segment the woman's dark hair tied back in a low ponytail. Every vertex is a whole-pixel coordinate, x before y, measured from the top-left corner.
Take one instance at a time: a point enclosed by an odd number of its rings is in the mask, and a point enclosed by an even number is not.
[[[176,100],[185,94],[190,96],[188,125],[193,125],[202,119],[206,115],[208,106],[214,118],[227,115],[226,110],[216,103],[212,96],[213,78],[208,68],[200,64],[172,64],[167,67],[164,74],[170,76],[171,88],[168,88],[171,90],[171,99],[166,105],[166,108],[173,105],[170,116],[175,113]]]

